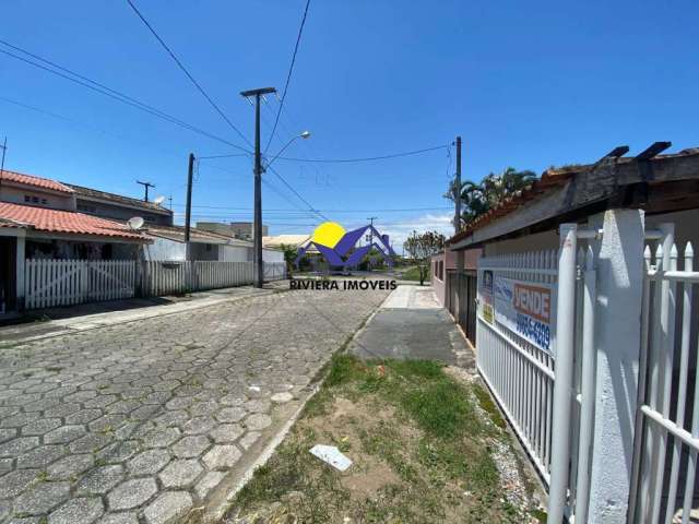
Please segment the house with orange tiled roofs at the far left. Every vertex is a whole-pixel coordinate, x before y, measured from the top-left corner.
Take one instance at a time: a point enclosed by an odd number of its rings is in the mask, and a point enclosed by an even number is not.
[[[135,260],[150,240],[125,224],[76,211],[56,180],[0,172],[0,314],[22,309],[28,259]]]

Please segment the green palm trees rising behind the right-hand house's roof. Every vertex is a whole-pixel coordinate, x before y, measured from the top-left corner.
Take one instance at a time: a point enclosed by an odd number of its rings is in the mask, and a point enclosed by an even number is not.
[[[488,174],[478,183],[465,181],[461,184],[460,191],[457,191],[455,182],[452,181],[445,198],[453,202],[455,194],[460,193],[461,222],[462,225],[466,225],[505,199],[531,186],[534,180],[536,180],[534,171],[518,171],[513,167],[508,167],[500,175]]]

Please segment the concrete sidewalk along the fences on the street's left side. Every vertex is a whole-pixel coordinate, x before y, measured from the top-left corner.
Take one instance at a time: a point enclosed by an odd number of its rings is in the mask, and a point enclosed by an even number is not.
[[[277,281],[265,284],[263,289],[239,286],[192,293],[187,296],[131,298],[31,311],[26,315],[28,320],[25,319],[23,323],[0,327],[0,347],[209,308],[287,288],[287,281]]]

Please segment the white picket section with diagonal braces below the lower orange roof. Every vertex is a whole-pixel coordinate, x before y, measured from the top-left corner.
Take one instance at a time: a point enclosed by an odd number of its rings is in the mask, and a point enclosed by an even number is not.
[[[40,260],[25,266],[26,309],[133,297],[133,260]]]

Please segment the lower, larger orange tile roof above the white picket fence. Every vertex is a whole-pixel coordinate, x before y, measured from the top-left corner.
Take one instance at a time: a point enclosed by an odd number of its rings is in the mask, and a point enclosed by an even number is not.
[[[38,231],[97,235],[135,240],[146,238],[123,224],[85,215],[73,211],[47,210],[31,205],[0,202],[0,223],[20,223],[14,227],[28,226]],[[8,227],[13,227],[8,225]]]

